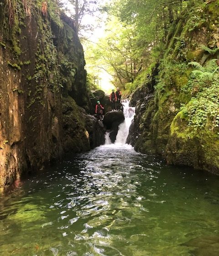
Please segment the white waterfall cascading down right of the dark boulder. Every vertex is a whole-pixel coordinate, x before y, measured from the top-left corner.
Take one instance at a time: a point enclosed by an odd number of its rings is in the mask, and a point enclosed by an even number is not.
[[[116,136],[115,144],[124,145],[129,135],[131,121],[135,115],[135,107],[129,107],[129,100],[122,100],[121,103],[124,107],[123,112],[125,116],[125,121],[119,125],[119,130]]]

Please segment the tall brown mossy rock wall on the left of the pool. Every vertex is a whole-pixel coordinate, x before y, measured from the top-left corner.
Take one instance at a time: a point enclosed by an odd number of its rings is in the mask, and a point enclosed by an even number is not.
[[[68,18],[47,2],[46,13],[38,0],[34,8],[31,1],[0,4],[0,188],[60,158],[63,148],[90,147],[76,106],[89,106],[83,48]],[[63,118],[62,95],[75,109],[72,120]]]

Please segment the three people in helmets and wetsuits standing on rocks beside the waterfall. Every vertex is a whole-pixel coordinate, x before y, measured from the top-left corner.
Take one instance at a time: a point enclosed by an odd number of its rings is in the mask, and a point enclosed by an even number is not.
[[[110,94],[110,102],[111,102],[112,111],[114,111],[114,110],[123,111],[121,97],[122,97],[122,93],[121,93],[119,87],[116,88],[116,92],[114,89],[112,89],[112,92]],[[103,120],[103,113],[104,113],[103,111],[104,111],[104,107],[100,104],[100,101],[97,101],[97,104],[95,106],[95,114],[97,115],[97,117],[100,121]]]

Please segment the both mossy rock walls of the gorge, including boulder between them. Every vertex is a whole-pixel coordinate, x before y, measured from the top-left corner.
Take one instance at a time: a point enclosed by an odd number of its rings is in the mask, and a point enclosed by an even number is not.
[[[219,174],[218,11],[217,0],[207,1],[171,23],[156,63],[139,70],[141,83],[130,96],[136,116],[127,139],[136,151],[215,174]],[[44,6],[36,0],[33,6],[26,0],[4,0],[0,23],[3,188],[26,172],[43,170],[65,152],[104,144],[106,130],[114,142],[125,117],[110,112],[104,91],[90,91],[75,23],[54,1]],[[103,123],[94,116],[97,100],[107,112]]]

